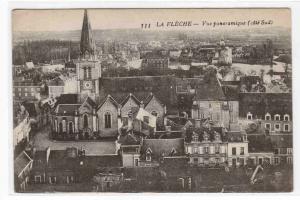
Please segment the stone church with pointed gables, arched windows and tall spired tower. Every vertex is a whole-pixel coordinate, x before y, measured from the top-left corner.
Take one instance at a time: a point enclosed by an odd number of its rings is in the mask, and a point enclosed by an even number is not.
[[[168,79],[103,78],[87,10],[84,11],[76,75],[77,94],[62,94],[52,111],[52,139],[116,138],[120,129],[135,117],[134,111],[142,113],[139,121],[154,130],[163,125],[170,92],[167,92],[169,88],[159,88],[168,86]],[[156,120],[154,124],[150,124],[152,117]]]

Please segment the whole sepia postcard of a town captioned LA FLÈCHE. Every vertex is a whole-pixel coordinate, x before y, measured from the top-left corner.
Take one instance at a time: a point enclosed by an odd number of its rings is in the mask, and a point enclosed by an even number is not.
[[[12,10],[14,192],[292,192],[291,21]]]

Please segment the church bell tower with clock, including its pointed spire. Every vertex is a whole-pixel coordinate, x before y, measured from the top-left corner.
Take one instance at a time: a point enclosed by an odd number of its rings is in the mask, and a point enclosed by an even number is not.
[[[76,64],[77,88],[81,100],[89,96],[94,101],[99,96],[99,78],[101,78],[101,63],[97,58],[95,40],[89,21],[88,12],[84,10],[81,39],[80,58]]]

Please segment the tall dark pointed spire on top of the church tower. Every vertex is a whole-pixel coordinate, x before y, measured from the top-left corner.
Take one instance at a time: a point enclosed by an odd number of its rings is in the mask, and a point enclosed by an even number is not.
[[[80,57],[94,58],[96,54],[95,41],[93,38],[93,31],[89,21],[87,10],[84,10],[84,17],[81,30],[80,40]]]

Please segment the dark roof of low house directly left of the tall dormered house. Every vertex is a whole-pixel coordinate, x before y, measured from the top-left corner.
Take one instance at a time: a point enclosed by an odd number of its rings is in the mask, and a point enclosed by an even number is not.
[[[170,155],[173,148],[176,150],[176,155],[184,155],[184,139],[144,139],[141,154],[145,154],[148,148],[152,151],[152,157],[156,159],[163,154]]]

